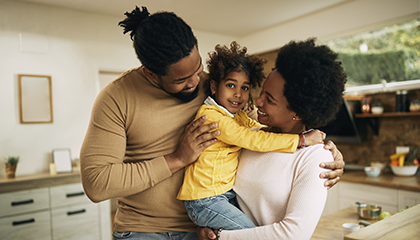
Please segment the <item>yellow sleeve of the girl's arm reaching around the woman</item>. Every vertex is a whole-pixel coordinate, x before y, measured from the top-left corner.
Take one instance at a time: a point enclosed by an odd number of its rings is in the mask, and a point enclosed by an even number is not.
[[[201,115],[208,116],[208,122],[219,124],[220,141],[241,148],[258,152],[295,152],[299,142],[297,134],[279,134],[264,131],[251,131],[250,127],[260,126],[255,120],[249,119],[244,112],[240,112],[244,125],[241,126],[230,116],[222,114],[217,108],[207,108]],[[238,113],[239,114],[239,113]]]

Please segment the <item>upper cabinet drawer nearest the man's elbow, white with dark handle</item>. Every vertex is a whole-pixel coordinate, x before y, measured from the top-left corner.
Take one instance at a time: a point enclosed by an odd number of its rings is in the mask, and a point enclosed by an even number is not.
[[[90,203],[81,183],[50,187],[51,207],[60,207],[77,203]]]

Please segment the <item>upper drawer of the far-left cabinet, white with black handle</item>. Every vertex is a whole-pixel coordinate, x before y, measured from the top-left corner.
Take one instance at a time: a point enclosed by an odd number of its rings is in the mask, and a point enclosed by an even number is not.
[[[48,188],[0,194],[0,217],[48,209]]]

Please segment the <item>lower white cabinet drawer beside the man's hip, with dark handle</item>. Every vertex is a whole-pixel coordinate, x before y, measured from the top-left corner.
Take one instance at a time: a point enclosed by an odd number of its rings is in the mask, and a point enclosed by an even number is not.
[[[53,239],[100,239],[99,208],[93,203],[52,210]]]

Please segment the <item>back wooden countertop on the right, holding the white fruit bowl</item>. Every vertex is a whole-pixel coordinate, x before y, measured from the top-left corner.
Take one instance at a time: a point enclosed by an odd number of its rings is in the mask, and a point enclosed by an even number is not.
[[[368,177],[364,171],[345,170],[341,181],[420,192],[419,174],[411,177],[399,177],[392,173],[383,173],[378,177]]]

